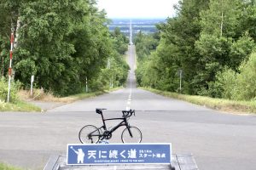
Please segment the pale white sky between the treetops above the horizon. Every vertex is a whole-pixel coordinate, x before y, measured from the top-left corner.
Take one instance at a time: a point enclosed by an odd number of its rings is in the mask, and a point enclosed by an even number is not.
[[[105,9],[113,18],[164,18],[175,14],[173,5],[178,0],[97,0],[98,8]]]

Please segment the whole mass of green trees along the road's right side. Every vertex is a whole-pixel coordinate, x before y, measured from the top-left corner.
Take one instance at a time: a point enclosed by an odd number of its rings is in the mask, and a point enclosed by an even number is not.
[[[219,77],[225,71],[244,71],[241,65],[255,48],[254,1],[183,0],[175,8],[177,15],[158,26],[160,45],[153,53],[143,53],[148,59],[137,71],[138,81],[177,92],[177,71],[183,70],[184,94],[226,98]]]

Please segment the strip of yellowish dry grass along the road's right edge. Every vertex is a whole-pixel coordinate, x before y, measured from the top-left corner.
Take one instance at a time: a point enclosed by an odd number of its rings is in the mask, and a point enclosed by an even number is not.
[[[154,94],[160,94],[166,97],[181,99],[188,101],[195,105],[203,105],[208,108],[232,112],[232,113],[256,113],[256,101],[234,101],[229,99],[213,99],[206,96],[195,96],[195,95],[185,95],[177,94],[172,92],[160,91],[154,88],[143,88]]]

